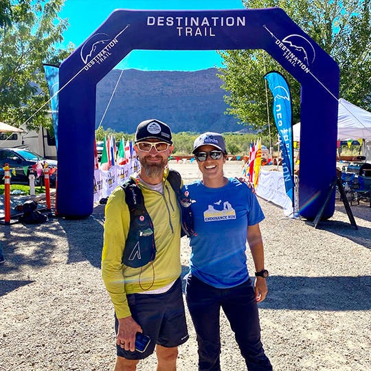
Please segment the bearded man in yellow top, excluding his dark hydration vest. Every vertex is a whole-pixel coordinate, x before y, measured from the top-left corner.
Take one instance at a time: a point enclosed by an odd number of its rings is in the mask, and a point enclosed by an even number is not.
[[[156,255],[142,267],[122,262],[131,214],[123,188],[117,187],[106,204],[102,251],[102,278],[115,308],[115,370],[136,370],[139,359],[156,349],[157,371],[172,371],[188,330],[180,279],[180,212],[165,172],[173,149],[170,127],[154,119],[141,122],[134,148],[141,169],[131,178],[142,190],[153,223]],[[136,347],[138,334],[149,341],[145,349]]]

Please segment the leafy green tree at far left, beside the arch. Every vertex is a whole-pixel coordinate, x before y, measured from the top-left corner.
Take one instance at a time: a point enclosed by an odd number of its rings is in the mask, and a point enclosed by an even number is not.
[[[0,120],[19,126],[32,117],[27,128],[50,128],[49,105],[34,113],[49,98],[43,63],[69,54],[56,46],[68,25],[58,16],[65,0],[0,1]]]

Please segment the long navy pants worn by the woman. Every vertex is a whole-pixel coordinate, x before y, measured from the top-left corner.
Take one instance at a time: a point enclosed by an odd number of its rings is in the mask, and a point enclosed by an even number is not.
[[[247,370],[273,370],[260,341],[258,306],[251,280],[217,289],[189,275],[186,300],[199,345],[199,370],[221,370],[220,310],[234,331]]]

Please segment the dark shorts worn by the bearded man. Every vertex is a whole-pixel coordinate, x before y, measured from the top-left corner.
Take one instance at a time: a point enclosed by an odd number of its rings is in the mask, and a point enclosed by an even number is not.
[[[142,327],[144,335],[150,337],[145,352],[131,352],[116,344],[117,356],[126,359],[144,359],[155,350],[156,344],[173,348],[188,340],[186,313],[184,311],[181,278],[170,290],[161,294],[128,294],[128,306],[133,319]],[[115,331],[118,321],[115,316]]]

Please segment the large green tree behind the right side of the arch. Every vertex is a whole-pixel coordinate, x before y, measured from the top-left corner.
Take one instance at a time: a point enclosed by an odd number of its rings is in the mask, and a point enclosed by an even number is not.
[[[243,3],[246,8],[278,6],[284,9],[339,64],[340,96],[370,109],[370,0],[243,0]],[[293,122],[300,120],[300,84],[269,54],[262,50],[226,50],[220,54],[225,68],[220,69],[219,76],[224,81],[223,88],[229,92],[225,96],[229,104],[227,113],[254,128],[265,128],[267,133],[264,75],[277,70],[291,87]],[[271,111],[270,92],[267,97]]]

